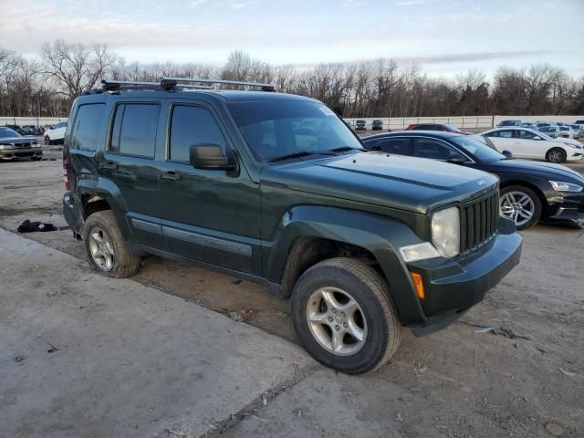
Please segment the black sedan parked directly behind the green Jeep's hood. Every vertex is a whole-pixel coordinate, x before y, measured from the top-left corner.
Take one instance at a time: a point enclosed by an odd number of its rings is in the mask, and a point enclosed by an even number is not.
[[[372,150],[453,162],[494,173],[500,178],[501,214],[515,221],[519,229],[537,224],[540,219],[584,225],[584,177],[568,167],[509,160],[493,145],[453,133],[394,132],[366,137],[363,142]]]

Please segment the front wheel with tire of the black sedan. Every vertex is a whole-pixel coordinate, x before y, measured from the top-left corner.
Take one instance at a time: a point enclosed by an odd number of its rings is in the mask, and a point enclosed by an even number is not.
[[[501,190],[499,210],[503,216],[516,223],[518,230],[526,230],[541,219],[542,204],[537,193],[530,188],[509,185]]]

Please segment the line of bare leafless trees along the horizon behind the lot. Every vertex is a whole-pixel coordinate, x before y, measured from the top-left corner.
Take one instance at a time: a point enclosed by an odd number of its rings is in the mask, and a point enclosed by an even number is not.
[[[502,66],[487,80],[471,69],[454,78],[431,78],[419,65],[380,58],[272,66],[242,51],[223,66],[204,63],[126,63],[103,44],[45,43],[38,57],[0,47],[0,116],[64,117],[84,89],[101,78],[158,81],[162,76],[220,78],[276,84],[278,91],[325,102],[343,117],[569,115],[584,113],[584,78],[547,63]]]

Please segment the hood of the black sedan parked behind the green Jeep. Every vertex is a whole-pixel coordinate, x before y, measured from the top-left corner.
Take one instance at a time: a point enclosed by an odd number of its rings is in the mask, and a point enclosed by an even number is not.
[[[547,180],[565,181],[567,183],[584,183],[584,176],[561,164],[553,162],[531,162],[527,160],[500,160],[485,162],[483,169],[487,172],[528,173]]]

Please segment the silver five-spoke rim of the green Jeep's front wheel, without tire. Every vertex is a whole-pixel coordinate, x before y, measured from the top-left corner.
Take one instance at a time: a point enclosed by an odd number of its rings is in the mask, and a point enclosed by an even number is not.
[[[357,353],[367,340],[363,310],[338,287],[322,287],[308,298],[307,323],[318,344],[337,356]]]

